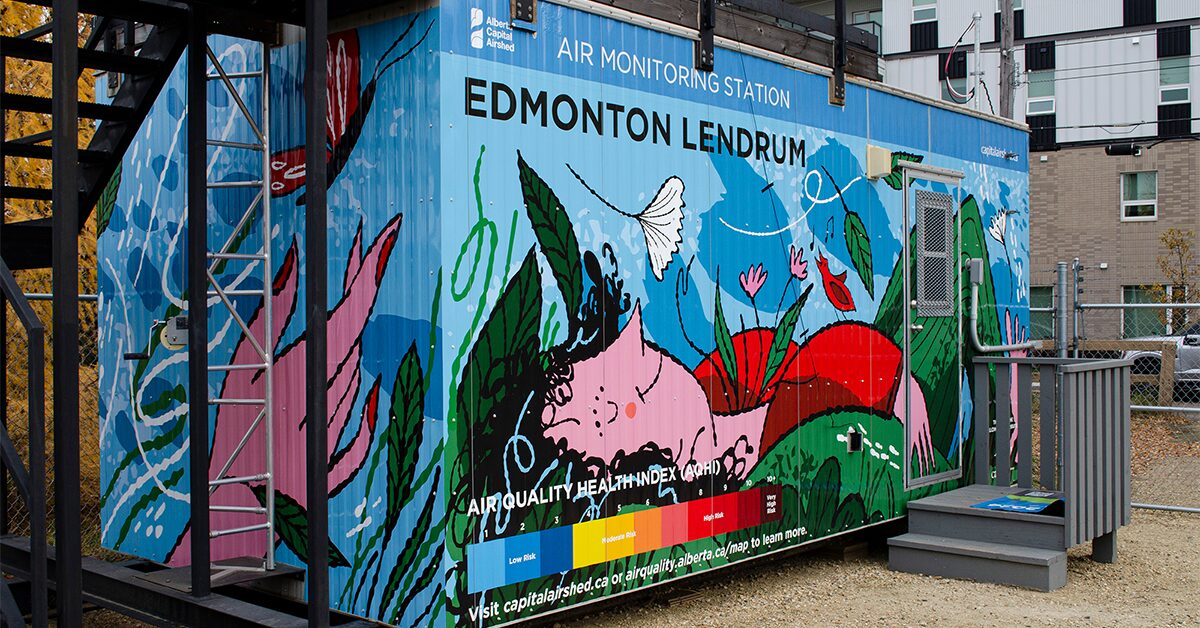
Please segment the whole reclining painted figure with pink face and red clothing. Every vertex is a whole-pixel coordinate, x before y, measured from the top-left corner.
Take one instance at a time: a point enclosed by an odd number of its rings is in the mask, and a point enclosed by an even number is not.
[[[743,384],[761,381],[750,372],[755,360],[749,358],[770,346],[767,333],[756,329],[734,336]],[[871,349],[847,359],[847,346]],[[932,468],[925,396],[913,379],[907,393],[912,413],[905,412],[905,393],[895,388],[901,354],[878,331],[841,323],[814,335],[803,347],[793,343],[784,366],[768,382],[767,395],[736,395],[756,400],[749,405],[731,406],[730,397],[721,396],[731,384],[719,382],[725,377],[719,359],[714,353],[690,372],[642,339],[641,309],[635,306],[613,343],[574,364],[572,379],[547,394],[541,415],[545,435],[560,450],[583,455],[594,469],[624,454],[658,447],[679,468],[721,460],[733,465],[728,469],[733,477],[745,478],[763,449],[788,429],[832,408],[853,407],[892,412],[901,423],[911,423],[917,463],[922,472]],[[862,373],[869,370],[880,372],[877,384],[863,383]]]

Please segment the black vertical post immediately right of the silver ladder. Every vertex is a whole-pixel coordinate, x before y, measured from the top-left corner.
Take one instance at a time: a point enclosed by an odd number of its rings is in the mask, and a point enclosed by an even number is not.
[[[329,319],[325,207],[326,0],[305,1],[305,352],[308,496],[308,626],[329,626],[329,433],[326,329]]]

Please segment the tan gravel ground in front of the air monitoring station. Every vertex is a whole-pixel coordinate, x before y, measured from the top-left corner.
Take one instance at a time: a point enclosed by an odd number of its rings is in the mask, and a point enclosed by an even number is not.
[[[884,554],[798,556],[583,617],[572,626],[1196,626],[1200,516],[1135,510],[1115,564],[1070,552],[1050,593],[889,572]]]

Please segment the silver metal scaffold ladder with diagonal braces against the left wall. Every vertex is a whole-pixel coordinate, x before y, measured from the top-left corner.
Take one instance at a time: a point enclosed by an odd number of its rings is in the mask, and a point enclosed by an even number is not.
[[[230,527],[224,530],[212,530],[209,532],[209,538],[215,539],[218,537],[230,536],[230,534],[247,534],[247,533],[262,533],[266,534],[266,555],[263,561],[263,569],[271,570],[275,569],[275,469],[274,469],[274,415],[272,415],[272,383],[274,373],[272,366],[275,361],[275,348],[272,336],[272,322],[271,322],[271,213],[270,213],[270,143],[268,140],[268,130],[270,127],[270,97],[269,97],[269,84],[268,74],[270,68],[269,48],[263,46],[262,60],[258,71],[246,71],[246,72],[227,72],[221,65],[220,58],[214,54],[211,48],[208,48],[208,58],[211,67],[209,70],[208,78],[210,82],[216,82],[223,85],[224,90],[228,92],[229,98],[234,104],[236,104],[240,110],[240,116],[248,125],[250,131],[253,136],[251,142],[229,142],[223,138],[208,138],[209,148],[227,149],[227,150],[250,150],[260,154],[262,160],[262,175],[257,179],[246,180],[234,180],[234,181],[214,181],[212,180],[212,168],[208,168],[209,172],[209,190],[217,189],[229,189],[229,187],[245,187],[245,189],[258,189],[253,199],[246,207],[245,211],[241,214],[241,219],[238,221],[236,226],[229,233],[229,237],[224,239],[224,243],[217,250],[208,251],[208,305],[209,307],[222,307],[224,312],[232,319],[232,327],[235,331],[241,335],[245,342],[248,342],[254,349],[254,360],[246,364],[210,364],[209,373],[222,373],[222,376],[228,375],[230,371],[245,371],[252,370],[262,373],[258,377],[260,382],[262,394],[253,394],[253,396],[238,399],[238,397],[210,397],[208,401],[214,406],[248,406],[252,408],[258,408],[254,413],[254,419],[246,425],[229,425],[229,421],[220,424],[220,429],[228,430],[242,430],[242,436],[239,439],[236,447],[234,447],[228,460],[226,460],[221,467],[221,471],[215,477],[209,477],[209,494],[211,495],[217,490],[218,486],[227,484],[245,484],[247,486],[259,485],[264,488],[264,500],[262,506],[222,506],[211,504],[209,507],[210,513],[247,513],[263,515],[264,520],[259,524]],[[259,119],[256,118],[247,107],[241,94],[234,85],[235,80],[250,80],[258,82],[258,97],[262,101],[259,104]],[[211,201],[210,201],[211,202]],[[235,251],[235,244],[239,239],[239,234],[251,232],[253,229],[260,231],[262,233],[262,249],[257,252],[242,252]],[[217,279],[221,273],[221,268],[227,264],[244,264],[242,273],[238,273],[233,283],[222,285]],[[262,271],[262,288],[246,289],[238,287],[240,285],[240,279],[246,277],[254,273],[254,267]],[[262,299],[262,334],[256,335],[250,329],[245,318],[238,313],[236,303],[239,299]],[[209,341],[212,342],[212,337]],[[239,342],[240,343],[240,342]],[[234,361],[230,358],[230,361]],[[248,414],[247,414],[248,415]],[[227,476],[229,469],[234,466],[234,462],[244,454],[246,445],[251,442],[251,438],[256,432],[263,433],[263,466],[257,473],[248,473],[241,476]]]

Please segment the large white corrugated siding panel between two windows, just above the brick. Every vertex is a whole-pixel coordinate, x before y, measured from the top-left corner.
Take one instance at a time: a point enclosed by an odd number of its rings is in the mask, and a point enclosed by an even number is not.
[[[1058,46],[1055,108],[1058,126],[1156,120],[1158,59],[1153,32],[1117,40],[1096,38]],[[1067,42],[1064,42],[1067,43]],[[1021,91],[1025,91],[1024,89]],[[1060,128],[1058,142],[1120,139],[1153,134],[1157,125],[1138,128]]]

